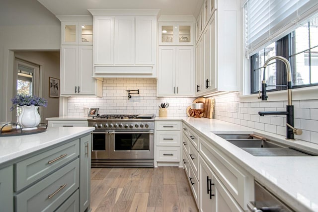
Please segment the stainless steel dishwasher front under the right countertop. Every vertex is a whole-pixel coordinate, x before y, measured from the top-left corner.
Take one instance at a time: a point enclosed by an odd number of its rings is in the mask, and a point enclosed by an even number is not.
[[[254,181],[255,201],[247,203],[251,212],[295,212],[268,191],[264,186]]]

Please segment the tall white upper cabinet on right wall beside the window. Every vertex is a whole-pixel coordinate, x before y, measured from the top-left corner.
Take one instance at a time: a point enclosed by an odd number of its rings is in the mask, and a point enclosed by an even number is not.
[[[196,22],[196,61],[200,63],[196,66],[197,96],[218,91],[240,90],[239,2],[206,0],[202,6]]]

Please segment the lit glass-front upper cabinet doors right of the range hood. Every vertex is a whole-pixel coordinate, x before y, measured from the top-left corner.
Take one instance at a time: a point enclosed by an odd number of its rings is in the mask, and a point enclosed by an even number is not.
[[[193,45],[193,22],[160,22],[159,45]]]

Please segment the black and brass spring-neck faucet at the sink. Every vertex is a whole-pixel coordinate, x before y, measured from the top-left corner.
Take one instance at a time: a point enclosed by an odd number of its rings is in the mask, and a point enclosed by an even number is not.
[[[287,71],[287,85],[281,85],[281,86],[287,86],[287,94],[288,94],[288,103],[286,105],[286,111],[266,111],[261,112],[259,111],[258,114],[260,116],[264,115],[286,115],[287,121],[286,121],[286,138],[294,140],[294,134],[296,135],[302,135],[303,131],[301,129],[294,128],[294,105],[292,105],[292,75],[291,75],[291,69],[290,69],[290,63],[289,61],[281,56],[273,56],[268,58],[265,61],[265,64],[263,66],[264,73],[263,73],[263,80],[262,80],[262,95],[259,94],[259,99],[267,100],[266,95],[266,87],[267,86],[276,86],[276,85],[267,85],[265,81],[265,69],[267,67],[267,64],[271,60],[280,60],[286,65],[286,71]]]

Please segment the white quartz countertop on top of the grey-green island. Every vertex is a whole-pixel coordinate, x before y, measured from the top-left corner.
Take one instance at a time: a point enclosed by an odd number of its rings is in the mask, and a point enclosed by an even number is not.
[[[49,127],[45,132],[38,134],[0,137],[0,165],[20,156],[89,133],[94,129],[93,127]]]

